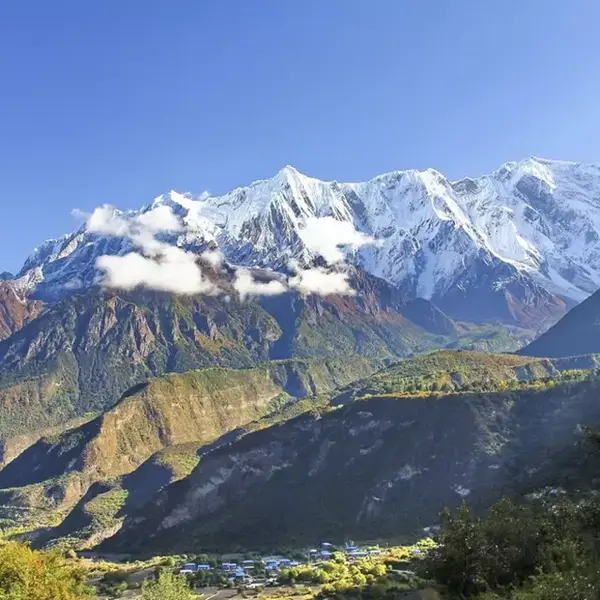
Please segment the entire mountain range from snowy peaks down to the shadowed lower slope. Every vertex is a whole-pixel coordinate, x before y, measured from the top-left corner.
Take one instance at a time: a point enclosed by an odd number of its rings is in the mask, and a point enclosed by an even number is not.
[[[36,543],[403,535],[600,421],[596,166],[285,167],[84,221],[0,277],[0,519]]]

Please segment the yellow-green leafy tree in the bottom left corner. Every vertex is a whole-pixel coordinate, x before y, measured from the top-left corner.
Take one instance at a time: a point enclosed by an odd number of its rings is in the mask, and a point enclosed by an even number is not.
[[[17,542],[0,546],[2,600],[83,600],[92,593],[85,575],[58,552],[38,552]]]

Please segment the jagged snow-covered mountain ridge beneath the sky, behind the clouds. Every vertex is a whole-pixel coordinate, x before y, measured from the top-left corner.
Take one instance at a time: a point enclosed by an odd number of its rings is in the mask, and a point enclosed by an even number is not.
[[[183,225],[171,242],[216,245],[230,263],[270,269],[313,258],[301,235],[307,219],[351,223],[377,243],[348,250],[350,261],[461,318],[552,320],[600,287],[600,166],[532,157],[476,179],[428,169],[364,183],[288,166],[224,196],[172,191],[121,216],[162,205]],[[59,297],[97,281],[98,256],[131,248],[83,226],[36,249],[14,283]]]

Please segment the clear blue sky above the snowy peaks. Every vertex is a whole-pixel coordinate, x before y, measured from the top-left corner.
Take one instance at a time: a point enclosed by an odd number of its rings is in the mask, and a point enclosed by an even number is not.
[[[72,208],[600,162],[598,0],[0,2],[0,271]]]

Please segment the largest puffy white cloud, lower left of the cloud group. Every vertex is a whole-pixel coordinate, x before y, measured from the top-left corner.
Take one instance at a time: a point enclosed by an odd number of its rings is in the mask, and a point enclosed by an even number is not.
[[[104,272],[104,285],[132,290],[147,287],[175,294],[214,294],[218,290],[208,281],[190,252],[169,246],[159,258],[137,252],[124,256],[100,256],[96,266]]]

